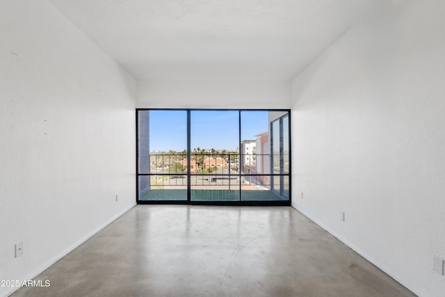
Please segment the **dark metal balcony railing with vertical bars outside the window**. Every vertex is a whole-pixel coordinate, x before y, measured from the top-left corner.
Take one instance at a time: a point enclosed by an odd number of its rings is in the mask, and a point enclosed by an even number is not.
[[[151,154],[146,164],[147,168],[140,168],[146,171],[139,174],[140,195],[149,190],[186,191],[190,188],[192,197],[203,195],[201,191],[236,191],[232,193],[236,197],[241,191],[254,200],[263,195],[261,191],[276,192],[283,176],[270,173],[270,154],[191,154],[190,163],[186,154]],[[249,194],[252,191],[257,194]],[[147,195],[160,195],[151,193]],[[211,192],[206,193],[211,197]],[[268,197],[275,199],[273,194]]]

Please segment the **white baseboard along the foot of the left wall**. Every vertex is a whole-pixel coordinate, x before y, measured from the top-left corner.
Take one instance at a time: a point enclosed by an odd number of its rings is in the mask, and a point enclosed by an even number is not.
[[[47,262],[40,265],[38,268],[35,268],[31,273],[29,273],[24,278],[22,278],[22,280],[33,280],[33,278],[35,278],[37,275],[39,275],[40,273],[45,271],[47,268],[49,268],[49,266],[58,262],[58,260],[62,259],[66,255],[68,255],[70,252],[72,252],[72,250],[79,247],[82,243],[84,243],[85,241],[90,239],[92,236],[97,234],[97,232],[99,232],[100,230],[104,229],[104,227],[113,223],[115,220],[120,218],[120,216],[122,216],[123,214],[125,214],[127,211],[129,211],[130,209],[132,209],[135,206],[136,206],[136,203],[129,204],[128,207],[125,207],[124,209],[122,209],[122,211],[120,211],[118,214],[116,214],[115,216],[106,220],[105,223],[103,223],[102,225],[99,225],[99,227],[95,228],[90,233],[86,234],[86,236],[83,236],[81,239],[79,239],[78,241],[73,243],[72,246],[70,246],[70,247],[66,248],[65,250],[63,250],[62,252],[58,253],[58,255],[49,259]],[[17,291],[20,288],[21,287],[9,287],[6,291],[1,292],[0,297],[10,296],[10,294],[13,294],[15,291]]]

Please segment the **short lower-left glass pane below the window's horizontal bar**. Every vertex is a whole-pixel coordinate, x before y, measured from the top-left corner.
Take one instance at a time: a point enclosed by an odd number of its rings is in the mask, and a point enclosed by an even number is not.
[[[139,200],[187,200],[187,178],[144,175],[139,177]]]

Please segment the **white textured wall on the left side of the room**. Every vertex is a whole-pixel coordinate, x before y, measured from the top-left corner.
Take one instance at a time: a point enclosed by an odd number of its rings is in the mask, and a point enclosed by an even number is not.
[[[24,280],[135,204],[136,81],[44,0],[2,0],[0,36],[0,280]]]

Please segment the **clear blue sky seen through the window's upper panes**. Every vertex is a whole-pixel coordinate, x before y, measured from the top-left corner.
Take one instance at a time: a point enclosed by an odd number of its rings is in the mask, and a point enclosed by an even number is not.
[[[150,151],[187,147],[186,111],[150,111]],[[268,111],[241,111],[241,140],[254,140],[268,130]],[[191,111],[191,149],[235,150],[238,111]]]

